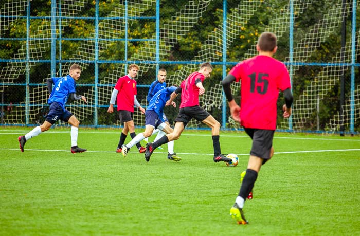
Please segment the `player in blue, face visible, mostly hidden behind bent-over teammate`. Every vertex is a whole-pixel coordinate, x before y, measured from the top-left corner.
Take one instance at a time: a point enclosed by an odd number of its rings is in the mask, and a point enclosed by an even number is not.
[[[150,102],[150,100],[154,97],[154,95],[155,95],[157,92],[159,92],[159,91],[160,91],[161,89],[163,89],[163,88],[166,88],[166,82],[165,82],[165,80],[166,80],[166,70],[165,70],[165,69],[159,69],[159,71],[157,71],[157,80],[155,80],[154,82],[152,82],[152,83],[150,84],[149,92],[148,92],[148,96],[147,96],[148,102]],[[169,124],[168,119],[166,118],[166,116],[165,116],[164,120],[165,120],[165,123],[170,126],[170,124]],[[155,129],[151,135],[156,134],[156,133],[158,133],[158,134],[157,134],[157,136],[156,136],[156,138],[155,138],[154,141],[158,140],[159,138],[161,138],[161,137],[163,137],[163,136],[165,135],[165,133],[164,133],[163,131],[160,131],[159,129]],[[149,139],[148,139],[148,138],[145,138],[144,141],[145,141],[146,143],[148,143],[148,142],[149,142]],[[161,149],[163,149],[163,148],[161,148],[161,147],[159,146],[159,147],[157,147],[157,149],[160,149],[160,150],[161,150]]]

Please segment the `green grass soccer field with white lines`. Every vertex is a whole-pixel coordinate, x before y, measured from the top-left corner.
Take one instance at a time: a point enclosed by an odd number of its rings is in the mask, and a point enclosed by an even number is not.
[[[0,129],[0,235],[360,235],[358,136],[276,133],[245,203],[250,224],[237,225],[229,209],[251,145],[243,132],[221,133],[222,152],[239,155],[227,167],[212,161],[210,131],[175,141],[180,162],[167,146],[146,162],[135,147],[115,153],[119,129],[80,128],[88,151],[77,154],[70,129],[51,129],[21,153],[17,136],[30,130]]]

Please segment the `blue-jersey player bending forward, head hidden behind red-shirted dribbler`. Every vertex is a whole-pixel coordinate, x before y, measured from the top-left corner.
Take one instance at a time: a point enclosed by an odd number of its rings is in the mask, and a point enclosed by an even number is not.
[[[172,133],[173,129],[166,123],[166,116],[164,115],[164,106],[169,100],[170,95],[176,90],[175,86],[163,88],[157,92],[150,100],[149,106],[145,111],[145,131],[136,135],[128,144],[122,146],[122,155],[127,156],[131,147],[140,142],[146,137],[149,137],[154,129],[159,129],[166,134]],[[171,103],[172,106],[176,106],[175,102]],[[164,133],[164,135],[165,135]],[[174,141],[168,142],[168,159],[174,161],[180,161],[181,157],[178,157],[174,153]]]

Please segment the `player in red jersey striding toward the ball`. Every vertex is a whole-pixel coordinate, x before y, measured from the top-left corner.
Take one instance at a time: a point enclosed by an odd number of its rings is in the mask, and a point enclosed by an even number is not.
[[[210,115],[204,108],[199,106],[199,95],[203,95],[205,88],[203,82],[206,78],[209,78],[212,72],[212,66],[210,63],[206,62],[200,65],[199,71],[193,72],[182,81],[180,87],[178,87],[170,96],[170,99],[167,101],[166,105],[171,105],[171,102],[174,98],[181,93],[181,105],[179,114],[177,115],[175,121],[174,131],[168,135],[164,135],[159,140],[154,143],[146,144],[145,159],[146,161],[150,160],[150,156],[153,151],[172,140],[176,140],[180,137],[181,133],[184,131],[185,126],[190,122],[192,118],[199,120],[211,128],[212,143],[214,147],[214,158],[215,162],[219,161],[231,161],[230,158],[225,157],[221,154],[220,141],[219,141],[219,131],[220,123],[215,120],[213,116]]]

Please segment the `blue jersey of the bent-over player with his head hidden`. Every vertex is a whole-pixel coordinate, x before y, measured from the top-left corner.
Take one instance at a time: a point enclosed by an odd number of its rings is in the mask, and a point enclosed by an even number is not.
[[[170,95],[174,92],[177,87],[171,86],[168,88],[163,88],[157,92],[149,102],[148,108],[146,110],[153,110],[159,116],[159,118],[164,121],[164,106],[165,103],[169,100]]]

